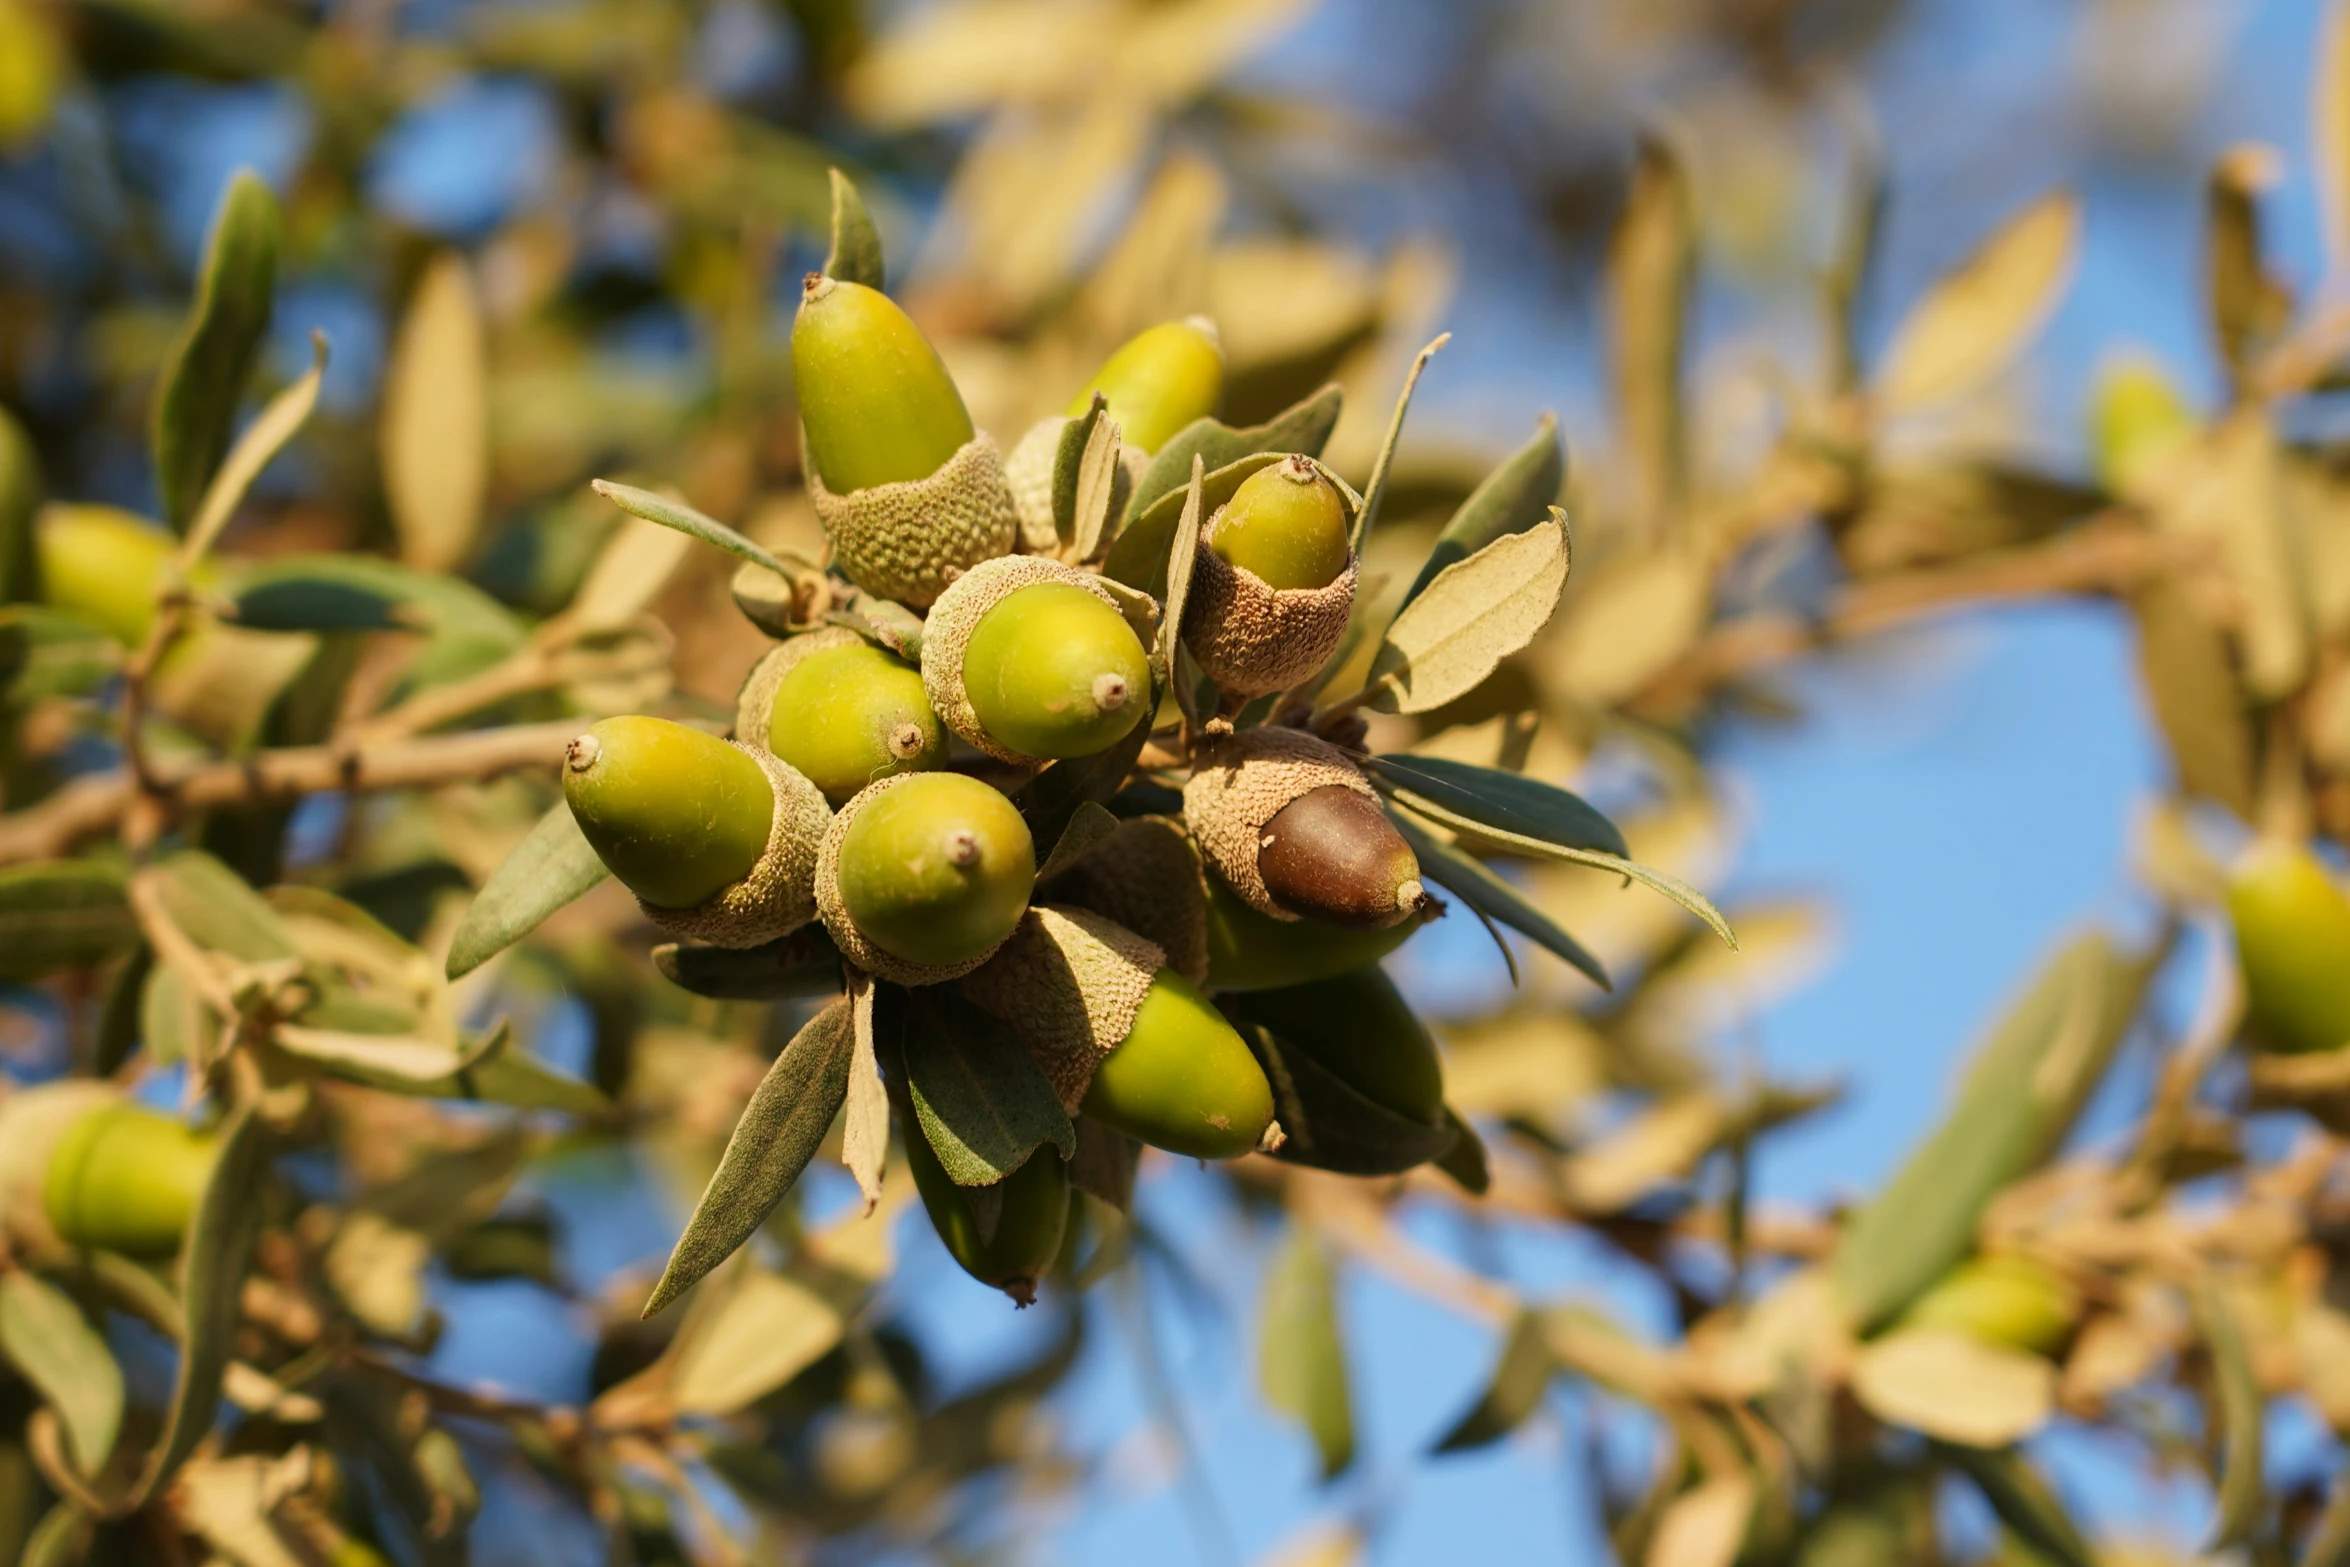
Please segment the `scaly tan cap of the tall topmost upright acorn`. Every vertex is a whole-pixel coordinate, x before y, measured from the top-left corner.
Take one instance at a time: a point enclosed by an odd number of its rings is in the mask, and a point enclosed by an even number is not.
[[[928,479],[834,496],[813,463],[806,477],[832,564],[877,599],[912,608],[928,608],[947,583],[1010,550],[1020,533],[1003,456],[985,430]]]

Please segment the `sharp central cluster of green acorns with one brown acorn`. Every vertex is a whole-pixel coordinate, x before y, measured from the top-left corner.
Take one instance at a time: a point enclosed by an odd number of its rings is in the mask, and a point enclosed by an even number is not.
[[[646,916],[724,949],[820,926],[884,991],[952,987],[1069,1116],[1123,1139],[1316,1163],[1281,1123],[1311,1078],[1410,1123],[1401,1163],[1445,1149],[1436,1048],[1377,968],[1441,909],[1361,726],[1314,733],[1271,700],[1340,648],[1354,491],[1309,451],[1255,453],[1213,510],[1194,475],[1191,559],[1119,580],[1109,529],[1079,550],[1055,526],[1055,458],[1072,423],[1109,421],[1116,515],[1154,449],[1217,413],[1210,322],[1130,341],[1010,460],[874,287],[808,275],[792,364],[808,491],[860,613],[783,637],[731,740],[618,717],[571,742],[571,813]],[[1168,580],[1189,587],[1173,634]],[[940,1236],[1027,1302],[1062,1247],[1065,1161],[1043,1144],[994,1189],[956,1186],[891,1090]]]

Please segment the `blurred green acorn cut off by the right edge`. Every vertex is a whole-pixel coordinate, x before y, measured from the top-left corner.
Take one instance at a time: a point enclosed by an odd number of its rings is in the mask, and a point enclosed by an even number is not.
[[[2228,916],[2261,1045],[2350,1045],[2350,895],[2324,862],[2301,843],[2256,843],[2228,876]]]

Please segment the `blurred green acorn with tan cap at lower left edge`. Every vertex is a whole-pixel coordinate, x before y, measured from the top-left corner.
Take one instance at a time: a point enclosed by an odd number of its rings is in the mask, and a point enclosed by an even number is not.
[[[28,1250],[172,1257],[216,1156],[212,1135],[110,1083],[24,1088],[0,1102],[0,1226]]]

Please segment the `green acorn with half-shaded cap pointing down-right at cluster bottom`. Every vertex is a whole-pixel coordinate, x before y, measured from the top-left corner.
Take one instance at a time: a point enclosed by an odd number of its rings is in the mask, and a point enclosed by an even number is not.
[[[1267,1142],[1274,1092],[1248,1043],[1166,954],[1090,909],[1036,907],[964,994],[1027,1041],[1062,1109],[1170,1154]]]

